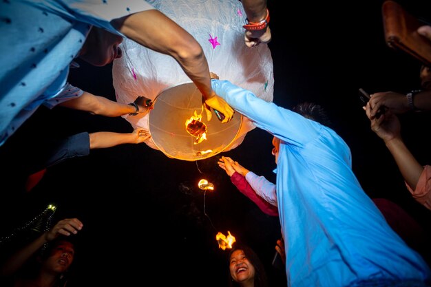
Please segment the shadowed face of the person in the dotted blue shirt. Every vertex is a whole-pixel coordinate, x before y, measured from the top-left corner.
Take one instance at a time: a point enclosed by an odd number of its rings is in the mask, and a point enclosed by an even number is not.
[[[98,67],[107,65],[122,56],[123,52],[118,47],[122,42],[122,36],[93,27],[85,41],[85,53],[80,58]]]

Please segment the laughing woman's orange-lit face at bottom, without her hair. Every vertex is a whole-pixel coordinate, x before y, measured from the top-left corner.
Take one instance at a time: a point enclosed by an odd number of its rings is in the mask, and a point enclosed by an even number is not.
[[[233,251],[229,259],[229,270],[233,281],[241,283],[253,281],[255,277],[255,268],[249,259],[246,258],[244,251],[238,249]]]

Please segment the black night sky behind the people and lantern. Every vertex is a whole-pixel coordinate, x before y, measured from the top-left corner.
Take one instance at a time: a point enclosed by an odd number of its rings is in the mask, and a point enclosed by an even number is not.
[[[429,227],[430,211],[410,197],[357,97],[359,87],[370,93],[419,88],[421,64],[384,42],[381,1],[352,2],[348,8],[330,1],[296,2],[268,3],[274,102],[293,107],[307,100],[326,107],[334,129],[350,146],[353,169],[366,193],[398,203]],[[417,16],[427,17],[423,13],[431,10],[424,2],[401,1]],[[72,71],[70,81],[114,98],[110,66],[83,63]],[[406,114],[401,123],[414,156],[429,164],[430,115]],[[102,130],[129,132],[132,127],[123,118],[41,107],[0,147],[0,235],[55,202],[55,221],[78,217],[84,223],[77,238],[77,286],[145,286],[149,279],[160,280],[160,286],[223,286],[227,251],[218,248],[215,234],[231,231],[257,251],[273,286],[284,286],[282,273],[271,266],[275,241],[281,236],[278,219],[264,215],[236,191],[218,168],[218,156],[187,162],[167,158],[145,144],[92,150],[90,156],[51,167],[31,193],[23,192],[21,151],[31,151],[34,142],[49,134]],[[274,181],[271,148],[271,136],[254,129],[242,145],[222,155]],[[213,182],[216,190],[204,194],[196,187],[200,178]]]

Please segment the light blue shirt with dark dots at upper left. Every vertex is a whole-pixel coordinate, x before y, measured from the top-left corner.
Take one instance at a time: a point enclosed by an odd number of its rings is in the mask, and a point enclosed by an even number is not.
[[[120,34],[110,21],[149,9],[143,0],[1,1],[0,145],[67,87],[92,25]]]

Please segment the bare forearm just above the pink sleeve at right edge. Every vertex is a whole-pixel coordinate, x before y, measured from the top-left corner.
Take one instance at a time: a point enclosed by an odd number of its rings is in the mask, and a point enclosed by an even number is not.
[[[422,165],[417,162],[401,138],[393,138],[385,142],[385,144],[394,157],[395,162],[397,162],[404,180],[412,189],[415,189],[423,171]]]

